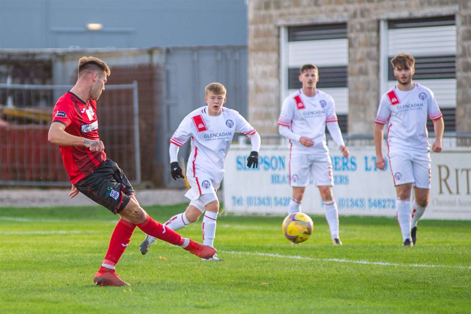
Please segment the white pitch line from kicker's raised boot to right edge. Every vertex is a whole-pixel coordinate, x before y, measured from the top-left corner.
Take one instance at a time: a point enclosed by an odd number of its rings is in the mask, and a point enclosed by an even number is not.
[[[251,253],[251,252],[236,252],[236,251],[219,251],[220,253],[227,254],[239,254],[239,255],[256,255],[256,256],[268,256],[272,258],[291,258],[291,259],[307,259],[313,261],[328,261],[328,262],[339,262],[339,263],[353,263],[353,264],[366,264],[366,265],[383,265],[383,266],[407,266],[407,267],[444,267],[444,268],[456,268],[456,269],[471,269],[471,266],[451,266],[451,265],[425,265],[425,264],[397,264],[389,262],[370,262],[365,260],[349,260],[343,258],[309,258],[307,256],[299,255],[281,255],[273,253]]]

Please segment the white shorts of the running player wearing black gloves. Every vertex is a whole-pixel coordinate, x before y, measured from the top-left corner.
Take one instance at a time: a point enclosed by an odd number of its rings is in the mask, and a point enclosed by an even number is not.
[[[185,196],[190,199],[190,205],[203,212],[206,205],[218,200],[211,179],[200,177],[187,177],[187,179],[191,188],[185,193]]]

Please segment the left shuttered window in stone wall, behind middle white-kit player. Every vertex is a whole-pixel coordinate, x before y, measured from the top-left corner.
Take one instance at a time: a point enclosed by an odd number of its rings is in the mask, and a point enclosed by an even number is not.
[[[303,64],[319,69],[317,88],[331,95],[342,132],[347,132],[348,39],[347,24],[290,26],[281,30],[281,86],[285,97],[301,88],[298,80]]]

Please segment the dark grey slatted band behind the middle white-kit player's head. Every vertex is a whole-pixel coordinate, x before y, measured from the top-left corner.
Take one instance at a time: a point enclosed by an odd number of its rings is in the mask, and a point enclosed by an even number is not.
[[[299,68],[288,69],[288,89],[300,89]],[[317,88],[348,87],[347,66],[325,66],[319,67],[319,81]]]

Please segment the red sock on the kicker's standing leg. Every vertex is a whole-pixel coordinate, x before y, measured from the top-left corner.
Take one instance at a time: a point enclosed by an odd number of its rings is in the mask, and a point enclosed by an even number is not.
[[[136,225],[131,224],[126,220],[120,219],[120,221],[118,221],[118,224],[114,227],[113,234],[111,235],[110,246],[106,252],[103,264],[114,266],[118,263],[122,253],[124,253],[124,250],[128,247],[131,235],[135,228]]]

